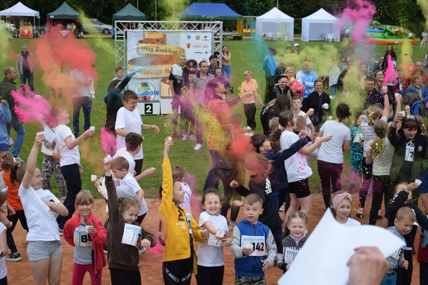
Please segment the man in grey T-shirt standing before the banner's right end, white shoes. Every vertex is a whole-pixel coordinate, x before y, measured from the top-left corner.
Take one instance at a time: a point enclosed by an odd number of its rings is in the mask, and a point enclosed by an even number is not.
[[[205,110],[207,101],[205,98],[205,87],[209,80],[214,79],[214,75],[208,73],[208,63],[204,60],[199,62],[199,73],[193,76],[190,81],[191,94],[193,96],[193,115],[198,111]],[[198,110],[199,108],[199,110]],[[196,120],[196,146],[195,150],[202,148],[202,121],[201,117]]]

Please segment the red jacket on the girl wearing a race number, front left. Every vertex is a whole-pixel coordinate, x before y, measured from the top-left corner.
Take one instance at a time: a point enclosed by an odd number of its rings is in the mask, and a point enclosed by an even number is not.
[[[107,231],[104,228],[102,221],[92,215],[92,212],[89,214],[86,219],[88,225],[95,227],[95,232],[91,234],[92,245],[93,245],[93,268],[95,273],[105,267],[107,264],[105,261],[103,246],[107,245]],[[74,217],[69,219],[64,225],[64,238],[72,246],[74,246],[74,229],[81,225],[80,214],[77,213]]]

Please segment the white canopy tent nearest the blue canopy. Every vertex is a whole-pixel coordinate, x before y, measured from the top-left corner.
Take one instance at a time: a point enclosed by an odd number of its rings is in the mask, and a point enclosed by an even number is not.
[[[286,34],[287,40],[293,41],[294,18],[273,8],[256,18],[256,39],[261,40],[266,33]]]

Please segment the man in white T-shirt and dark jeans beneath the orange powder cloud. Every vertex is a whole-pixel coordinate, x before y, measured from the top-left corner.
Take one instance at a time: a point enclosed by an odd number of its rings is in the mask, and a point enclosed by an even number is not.
[[[79,137],[80,107],[83,109],[83,129],[86,131],[90,127],[91,97],[95,92],[93,89],[93,80],[90,75],[83,74],[78,69],[73,69],[70,72],[70,78],[74,79],[75,84],[72,91],[74,136]]]

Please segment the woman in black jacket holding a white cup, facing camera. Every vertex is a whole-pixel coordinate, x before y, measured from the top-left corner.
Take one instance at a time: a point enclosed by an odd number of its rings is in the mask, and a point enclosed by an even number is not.
[[[316,79],[313,82],[313,86],[315,87],[315,91],[307,96],[303,111],[307,113],[309,109],[313,109],[313,114],[309,118],[317,132],[326,121],[326,117],[324,117],[325,110],[331,112],[332,108],[330,106],[329,94],[323,91],[323,80]]]

